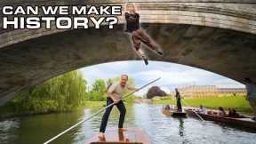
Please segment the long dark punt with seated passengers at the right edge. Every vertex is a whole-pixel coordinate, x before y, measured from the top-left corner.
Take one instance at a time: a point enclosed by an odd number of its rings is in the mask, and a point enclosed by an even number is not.
[[[223,123],[223,124],[240,125],[248,128],[256,128],[256,121],[252,120],[252,117],[249,117],[249,116],[228,117],[228,116],[200,114],[193,109],[186,109],[186,111],[189,116],[196,116],[196,114],[198,114],[199,116],[202,116],[204,120],[210,120],[210,121]]]

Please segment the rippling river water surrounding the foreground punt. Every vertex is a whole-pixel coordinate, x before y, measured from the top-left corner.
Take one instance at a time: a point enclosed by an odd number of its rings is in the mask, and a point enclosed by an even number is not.
[[[139,127],[148,133],[153,144],[255,144],[256,131],[244,131],[213,122],[201,122],[195,118],[172,118],[161,113],[161,106],[148,104],[128,105],[124,127]],[[84,109],[74,113],[26,116],[0,122],[0,143],[36,144],[43,143],[90,116],[99,108]],[[101,116],[95,116],[71,132],[66,133],[54,144],[82,144],[99,132]],[[118,110],[115,108],[109,127],[118,124]]]

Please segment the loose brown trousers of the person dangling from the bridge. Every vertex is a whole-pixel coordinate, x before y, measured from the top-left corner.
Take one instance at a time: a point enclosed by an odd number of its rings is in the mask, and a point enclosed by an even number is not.
[[[147,34],[142,29],[137,29],[132,31],[132,43],[134,48],[138,51],[140,49],[140,44],[143,42],[148,45],[152,50],[157,50],[156,43],[151,40]]]

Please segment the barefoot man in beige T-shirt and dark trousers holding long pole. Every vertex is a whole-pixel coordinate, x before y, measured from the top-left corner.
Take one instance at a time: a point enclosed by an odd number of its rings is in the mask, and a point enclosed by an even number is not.
[[[128,81],[128,76],[122,75],[120,77],[119,82],[111,84],[108,88],[107,106],[114,102],[116,107],[120,111],[119,124],[118,124],[119,130],[121,130],[123,128],[124,116],[126,113],[126,108],[125,108],[124,102],[122,100],[124,92],[126,90],[131,90],[131,91],[136,90],[135,88],[129,87],[129,85],[127,84],[127,81]],[[100,124],[99,138],[104,138],[104,132],[105,132],[106,126],[108,124],[108,116],[110,115],[110,112],[113,107],[114,107],[114,105],[107,108],[102,117],[101,124]]]

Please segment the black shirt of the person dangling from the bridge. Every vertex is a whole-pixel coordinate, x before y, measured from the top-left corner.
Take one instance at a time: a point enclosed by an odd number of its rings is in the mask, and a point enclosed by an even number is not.
[[[132,31],[140,28],[140,15],[139,13],[130,14],[125,12],[125,20],[126,20],[126,32],[132,33]]]

